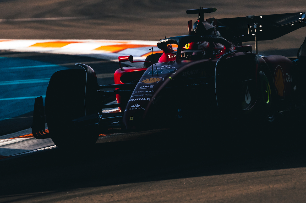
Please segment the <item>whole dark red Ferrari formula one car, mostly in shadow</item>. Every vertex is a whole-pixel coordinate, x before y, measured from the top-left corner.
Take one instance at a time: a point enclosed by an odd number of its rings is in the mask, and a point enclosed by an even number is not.
[[[306,26],[305,12],[204,20],[204,13],[215,11],[187,10],[198,13],[198,20],[188,22],[188,35],[160,40],[157,46],[163,53],[145,61],[120,56],[115,84],[99,85],[95,71],[84,64],[76,64],[83,69],[54,73],[45,102],[49,133],[39,97],[34,137],[51,137],[60,147],[89,146],[99,134],[218,118],[272,123],[279,114],[302,109],[305,82],[299,76],[305,73],[306,39],[297,59],[260,56],[257,41]],[[252,46],[242,46],[246,41],[255,41],[256,53]],[[127,61],[144,65],[121,67]],[[106,105],[114,95],[117,104]],[[112,107],[120,111],[102,112]]]

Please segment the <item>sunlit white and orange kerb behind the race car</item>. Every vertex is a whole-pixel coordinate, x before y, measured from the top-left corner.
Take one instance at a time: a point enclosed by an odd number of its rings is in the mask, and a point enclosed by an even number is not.
[[[41,45],[39,43],[48,43]],[[52,43],[54,47],[52,47]],[[56,43],[68,43],[62,47],[56,47]],[[127,46],[126,48],[124,46]],[[129,45],[135,45],[129,48]],[[139,47],[137,47],[137,45]],[[154,51],[161,51],[157,48],[157,41],[140,41],[140,40],[12,40],[0,39],[0,50],[16,51],[16,52],[39,52],[52,54],[69,54],[88,56],[96,59],[106,59],[118,62],[118,57],[122,55],[133,55],[134,61],[145,60],[142,56],[151,52],[149,48],[153,47]],[[105,47],[122,46],[122,50],[108,49]],[[102,49],[99,49],[103,47]],[[131,65],[129,62],[124,62]],[[143,63],[133,63],[131,66],[142,67]]]

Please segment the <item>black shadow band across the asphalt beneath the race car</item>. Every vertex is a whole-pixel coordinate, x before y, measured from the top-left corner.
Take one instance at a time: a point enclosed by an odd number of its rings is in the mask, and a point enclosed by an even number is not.
[[[305,167],[305,120],[285,123],[201,123],[98,143],[81,153],[43,151],[0,162],[0,191],[16,195]]]

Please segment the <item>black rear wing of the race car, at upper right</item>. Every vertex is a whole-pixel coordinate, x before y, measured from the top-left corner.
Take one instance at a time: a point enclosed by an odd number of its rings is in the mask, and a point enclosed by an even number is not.
[[[214,18],[207,21],[212,23]],[[273,40],[305,27],[306,18],[305,12],[222,18],[217,19],[217,26],[226,26],[219,30],[222,37],[239,46],[239,42]]]

